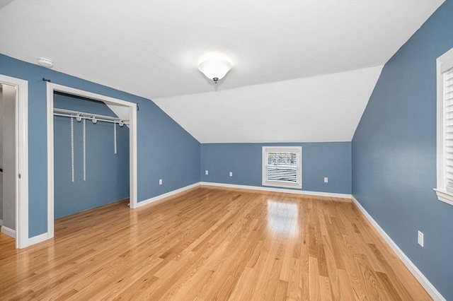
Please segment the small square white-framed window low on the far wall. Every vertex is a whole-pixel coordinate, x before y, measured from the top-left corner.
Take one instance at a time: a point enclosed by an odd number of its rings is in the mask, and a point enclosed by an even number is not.
[[[302,188],[302,147],[263,146],[263,185]]]

